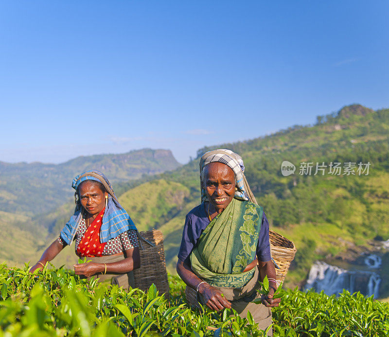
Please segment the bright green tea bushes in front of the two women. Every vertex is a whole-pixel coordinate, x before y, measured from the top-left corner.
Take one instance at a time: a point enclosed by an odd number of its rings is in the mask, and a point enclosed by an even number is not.
[[[182,281],[170,276],[169,283],[166,300],[155,286],[127,293],[63,268],[30,274],[2,264],[0,337],[265,336],[250,317],[190,309]],[[273,309],[274,336],[388,336],[388,312],[389,303],[359,293],[287,290]]]

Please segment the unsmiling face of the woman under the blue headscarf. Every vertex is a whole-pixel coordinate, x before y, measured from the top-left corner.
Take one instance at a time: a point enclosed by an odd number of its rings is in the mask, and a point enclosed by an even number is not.
[[[103,211],[106,206],[106,195],[103,191],[94,183],[90,181],[84,181],[78,187],[78,193],[80,196],[81,206],[90,215],[97,215]]]

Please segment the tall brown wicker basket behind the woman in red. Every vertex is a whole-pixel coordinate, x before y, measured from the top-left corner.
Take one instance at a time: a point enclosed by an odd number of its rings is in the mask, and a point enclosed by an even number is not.
[[[159,295],[165,293],[169,296],[167,281],[165,250],[163,249],[163,235],[161,231],[141,231],[141,237],[155,245],[153,247],[146,241],[139,240],[141,253],[141,267],[134,270],[135,287],[147,291],[151,284],[155,284]]]

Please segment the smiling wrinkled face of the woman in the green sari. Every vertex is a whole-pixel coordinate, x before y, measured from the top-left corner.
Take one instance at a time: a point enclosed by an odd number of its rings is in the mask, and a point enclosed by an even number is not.
[[[224,210],[235,195],[234,171],[220,162],[204,167],[203,184],[208,200],[216,210]]]

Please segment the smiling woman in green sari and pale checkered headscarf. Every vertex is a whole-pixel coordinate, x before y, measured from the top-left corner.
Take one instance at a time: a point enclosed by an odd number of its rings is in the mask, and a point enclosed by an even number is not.
[[[197,292],[197,301],[219,311],[250,311],[259,328],[271,325],[277,288],[271,261],[269,224],[256,204],[243,160],[230,150],[207,152],[200,159],[202,203],[186,216],[177,273]],[[259,261],[259,262],[258,262]],[[258,265],[258,267],[257,267]],[[269,293],[254,304],[259,280],[269,280]],[[268,330],[271,335],[271,329]]]

